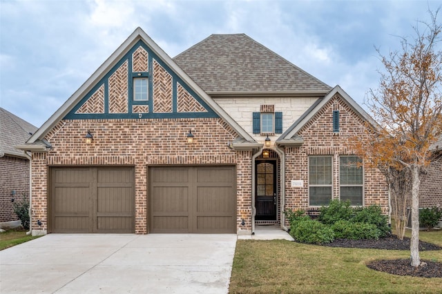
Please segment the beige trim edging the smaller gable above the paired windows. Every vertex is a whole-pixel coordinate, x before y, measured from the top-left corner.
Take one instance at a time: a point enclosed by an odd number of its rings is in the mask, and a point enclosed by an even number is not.
[[[368,121],[372,126],[375,128],[380,128],[378,123],[372,119],[368,115],[359,104],[356,103],[352,99],[352,97],[349,97],[349,95],[342,89],[340,86],[334,87],[324,98],[316,100],[316,102],[306,111],[304,114],[302,114],[299,119],[297,119],[294,124],[292,124],[287,130],[280,135],[280,137],[276,140],[276,144],[280,146],[299,146],[303,143],[302,138],[298,136],[298,131],[302,128],[302,126],[305,126],[307,122],[316,115],[316,112],[318,112],[327,102],[334,97],[334,95],[339,94],[340,97],[344,99],[344,101],[356,112],[358,115],[361,115],[365,121]]]

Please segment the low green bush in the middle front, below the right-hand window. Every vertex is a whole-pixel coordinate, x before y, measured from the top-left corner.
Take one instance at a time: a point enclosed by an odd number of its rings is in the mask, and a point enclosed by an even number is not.
[[[342,239],[379,239],[381,232],[374,224],[339,220],[332,225],[334,237]]]

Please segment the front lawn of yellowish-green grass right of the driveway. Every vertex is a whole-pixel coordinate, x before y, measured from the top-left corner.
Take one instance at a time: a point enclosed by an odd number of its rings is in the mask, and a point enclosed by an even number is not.
[[[442,246],[442,230],[421,231],[420,239]],[[421,259],[442,262],[442,251],[422,251],[420,255]],[[238,240],[229,292],[441,293],[442,278],[402,277],[365,266],[375,259],[409,257],[410,251]]]

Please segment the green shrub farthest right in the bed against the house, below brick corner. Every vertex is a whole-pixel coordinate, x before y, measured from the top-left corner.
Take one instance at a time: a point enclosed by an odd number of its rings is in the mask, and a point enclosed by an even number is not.
[[[391,233],[392,229],[388,225],[387,216],[382,214],[381,206],[372,205],[364,208],[354,208],[354,211],[352,222],[376,226],[379,231],[378,237],[385,237]]]

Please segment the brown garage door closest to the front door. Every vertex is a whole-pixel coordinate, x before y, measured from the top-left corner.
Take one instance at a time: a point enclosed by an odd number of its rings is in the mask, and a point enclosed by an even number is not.
[[[236,233],[234,166],[149,168],[151,233]]]

